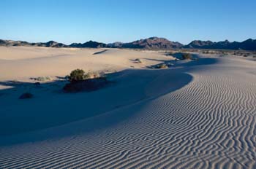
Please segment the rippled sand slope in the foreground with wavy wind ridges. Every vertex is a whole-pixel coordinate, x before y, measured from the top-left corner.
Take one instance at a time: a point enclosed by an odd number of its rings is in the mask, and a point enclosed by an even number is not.
[[[139,103],[115,127],[3,147],[0,168],[256,168],[255,76],[190,74],[187,86]]]

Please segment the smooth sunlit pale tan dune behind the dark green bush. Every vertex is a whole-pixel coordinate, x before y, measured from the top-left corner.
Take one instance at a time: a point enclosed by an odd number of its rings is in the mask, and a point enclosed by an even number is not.
[[[120,71],[127,68],[143,68],[147,65],[170,60],[170,57],[157,53],[144,53],[135,50],[73,49],[49,47],[0,47],[0,81],[16,79],[28,81],[35,76],[66,76],[75,68],[85,71]],[[131,62],[140,58],[143,64]],[[143,59],[146,58],[146,59]],[[58,68],[57,68],[58,67]]]

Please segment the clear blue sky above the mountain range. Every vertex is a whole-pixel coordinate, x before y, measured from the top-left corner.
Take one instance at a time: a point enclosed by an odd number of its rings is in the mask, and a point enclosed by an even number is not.
[[[0,39],[131,42],[256,39],[255,0],[1,0]]]

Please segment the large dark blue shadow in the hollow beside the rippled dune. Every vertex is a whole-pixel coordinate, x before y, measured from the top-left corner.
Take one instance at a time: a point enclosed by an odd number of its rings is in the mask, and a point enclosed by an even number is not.
[[[212,63],[215,61],[202,59],[192,66]],[[63,138],[111,127],[135,116],[147,101],[189,84],[192,76],[186,71],[124,70],[109,75],[115,85],[90,93],[62,93],[65,81],[47,82],[40,88],[28,82],[0,82],[12,86],[0,90],[10,93],[0,95],[0,145]],[[18,99],[25,88],[34,93],[34,98]]]

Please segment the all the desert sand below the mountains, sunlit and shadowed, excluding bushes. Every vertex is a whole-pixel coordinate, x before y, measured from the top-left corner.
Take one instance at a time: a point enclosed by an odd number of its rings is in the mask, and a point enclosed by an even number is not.
[[[0,168],[256,168],[256,61],[194,54],[0,47]],[[75,68],[114,83],[62,93]]]

